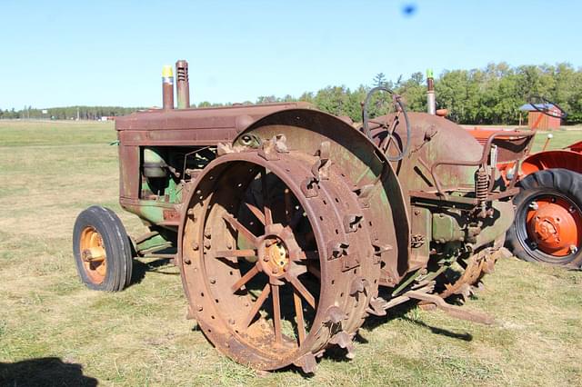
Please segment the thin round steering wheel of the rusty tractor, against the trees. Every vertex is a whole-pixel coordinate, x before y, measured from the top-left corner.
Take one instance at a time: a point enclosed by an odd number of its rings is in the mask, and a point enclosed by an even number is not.
[[[368,117],[368,106],[370,104],[370,100],[372,98],[372,95],[375,94],[376,92],[380,92],[380,91],[386,92],[392,96],[392,103],[394,104],[394,106],[396,108],[396,114],[394,115],[394,121],[392,122],[392,124],[386,125],[386,124],[376,123],[376,124],[380,124],[381,126],[386,127],[387,132],[388,132],[386,139],[380,145],[380,148],[385,153],[387,152],[388,147],[392,143],[392,140],[395,139],[394,131],[396,130],[396,125],[399,122],[400,114],[402,114],[404,116],[404,121],[406,124],[406,144],[404,145],[403,149],[399,149],[399,146],[398,146],[398,144],[396,144],[396,141],[395,141],[394,143],[395,143],[396,148],[398,148],[398,154],[396,154],[396,156],[389,156],[386,154],[386,158],[388,159],[388,161],[391,161],[391,162],[400,161],[406,156],[406,154],[408,154],[408,149],[410,148],[410,137],[411,137],[410,120],[408,119],[408,114],[406,114],[406,106],[402,102],[402,97],[400,95],[394,93],[392,90],[390,90],[384,86],[377,86],[377,87],[374,87],[372,90],[370,90],[368,92],[368,94],[366,95],[366,99],[364,100],[364,104],[362,105],[362,126],[364,127],[364,133],[366,134],[366,136],[370,140],[372,140],[372,132],[370,131],[370,127],[369,127],[369,122],[371,120]]]

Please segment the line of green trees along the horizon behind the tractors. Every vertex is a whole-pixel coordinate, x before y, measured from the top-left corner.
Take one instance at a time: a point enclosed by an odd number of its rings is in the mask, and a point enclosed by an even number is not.
[[[361,121],[361,104],[372,87],[385,86],[402,95],[410,111],[426,111],[426,78],[417,72],[404,79],[386,80],[385,74],[376,74],[371,84],[361,84],[355,89],[345,85],[327,86],[316,92],[306,92],[294,97],[285,95],[259,96],[255,103],[306,101],[324,112],[346,115]],[[448,117],[459,124],[517,124],[519,106],[527,103],[529,95],[547,97],[568,112],[567,124],[582,123],[582,69],[567,63],[557,65],[490,64],[472,70],[446,70],[435,79],[437,108],[448,109]],[[383,114],[390,108],[388,95],[377,94],[370,104],[371,114]],[[193,107],[223,106],[202,102]],[[54,118],[98,119],[101,116],[129,114],[138,108],[120,106],[69,106],[23,110],[0,109],[0,118]]]

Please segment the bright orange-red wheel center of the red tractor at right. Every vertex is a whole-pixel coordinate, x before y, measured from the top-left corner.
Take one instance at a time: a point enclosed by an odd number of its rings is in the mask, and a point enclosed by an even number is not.
[[[567,256],[582,241],[582,215],[567,200],[543,198],[529,204],[527,233],[544,253]]]

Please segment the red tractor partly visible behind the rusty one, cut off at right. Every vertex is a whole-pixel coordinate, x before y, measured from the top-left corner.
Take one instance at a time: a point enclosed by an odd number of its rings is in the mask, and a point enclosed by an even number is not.
[[[529,104],[541,114],[563,119],[567,114],[546,98],[533,96]],[[538,115],[537,122],[539,121]],[[531,133],[537,132],[533,124]],[[470,130],[481,143],[496,135],[496,141],[521,135],[519,130]],[[582,268],[582,141],[564,149],[544,149],[529,154],[521,168],[499,163],[503,178],[517,176],[521,192],[514,197],[516,220],[507,231],[507,246],[529,262],[542,262],[573,269]],[[495,142],[494,142],[495,143]]]

